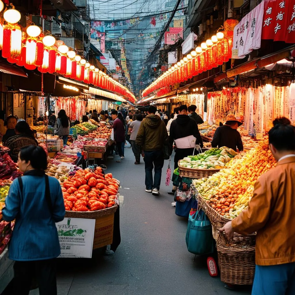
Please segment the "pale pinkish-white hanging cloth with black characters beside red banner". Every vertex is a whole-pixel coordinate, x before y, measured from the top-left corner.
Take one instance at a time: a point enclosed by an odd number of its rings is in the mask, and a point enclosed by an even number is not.
[[[261,44],[263,1],[249,12],[234,28],[232,58],[244,58]]]

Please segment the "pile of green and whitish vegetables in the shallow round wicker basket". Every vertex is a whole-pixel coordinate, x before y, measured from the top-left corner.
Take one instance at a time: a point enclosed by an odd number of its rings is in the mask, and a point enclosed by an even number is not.
[[[180,160],[179,166],[193,169],[221,169],[237,153],[227,147],[212,148],[204,153]]]

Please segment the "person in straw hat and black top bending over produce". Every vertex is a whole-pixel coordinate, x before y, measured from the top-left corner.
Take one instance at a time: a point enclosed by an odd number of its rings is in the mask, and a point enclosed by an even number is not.
[[[229,114],[226,116],[226,122],[223,126],[216,129],[213,140],[212,148],[221,148],[226,146],[227,148],[232,148],[233,150],[242,151],[244,149],[242,138],[237,128],[243,123],[237,120],[234,114]]]

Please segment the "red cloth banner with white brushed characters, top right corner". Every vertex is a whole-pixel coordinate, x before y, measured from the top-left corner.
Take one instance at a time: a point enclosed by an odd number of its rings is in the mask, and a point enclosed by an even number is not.
[[[295,42],[295,0],[264,0],[261,39]]]

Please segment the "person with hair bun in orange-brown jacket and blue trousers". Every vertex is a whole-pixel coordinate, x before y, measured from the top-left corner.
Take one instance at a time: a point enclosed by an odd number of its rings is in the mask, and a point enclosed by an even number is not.
[[[276,119],[268,133],[270,150],[278,161],[255,183],[248,208],[222,227],[234,232],[257,232],[252,295],[295,294],[295,127]]]

